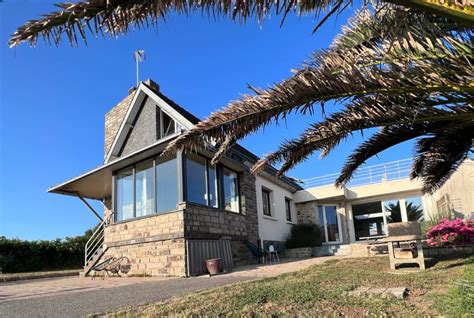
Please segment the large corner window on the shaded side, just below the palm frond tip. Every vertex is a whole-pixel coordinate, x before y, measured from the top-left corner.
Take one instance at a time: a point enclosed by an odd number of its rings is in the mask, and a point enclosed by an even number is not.
[[[186,156],[186,201],[239,212],[239,178],[235,171],[196,154]]]

